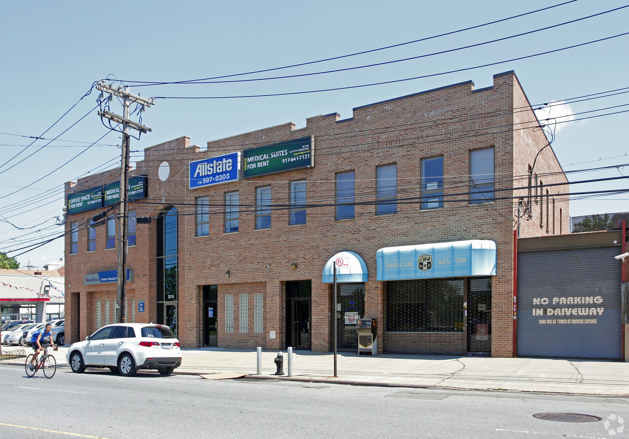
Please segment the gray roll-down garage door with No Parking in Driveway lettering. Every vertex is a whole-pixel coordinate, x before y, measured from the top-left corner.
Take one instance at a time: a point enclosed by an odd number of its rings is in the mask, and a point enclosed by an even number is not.
[[[518,355],[620,359],[618,247],[518,253]]]

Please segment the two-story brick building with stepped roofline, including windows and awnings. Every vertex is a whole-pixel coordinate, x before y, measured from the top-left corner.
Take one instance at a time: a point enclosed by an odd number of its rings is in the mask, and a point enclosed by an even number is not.
[[[304,128],[285,123],[206,149],[187,136],[146,148],[132,175],[147,176],[147,192],[131,209],[153,222],[131,221],[127,321],[173,326],[182,347],[326,352],[338,260],[340,349],[357,348],[356,318],[377,318],[379,352],[513,355],[513,231],[569,231],[567,186],[547,186],[567,179],[533,130],[539,123],[515,73],[494,75],[483,89],[468,81],[360,106],[352,116],[313,116]],[[314,165],[191,189],[190,162],[205,175],[216,167],[202,159],[239,152],[253,160],[252,148],[294,139],[310,142]],[[528,186],[534,161],[532,192],[514,189]],[[65,191],[107,187],[119,175],[91,175]],[[532,218],[518,220],[525,196]],[[115,315],[116,284],[103,273],[116,270],[116,220],[86,227],[102,210],[67,220],[72,342]]]

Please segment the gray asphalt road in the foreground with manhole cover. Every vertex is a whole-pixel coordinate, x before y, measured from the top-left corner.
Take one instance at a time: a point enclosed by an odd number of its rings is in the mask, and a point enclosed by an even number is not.
[[[622,397],[326,385],[0,366],[0,438],[622,438]],[[565,423],[534,413],[593,414]],[[26,428],[25,428],[26,427]],[[42,430],[36,430],[36,429]],[[52,430],[52,431],[50,431]]]

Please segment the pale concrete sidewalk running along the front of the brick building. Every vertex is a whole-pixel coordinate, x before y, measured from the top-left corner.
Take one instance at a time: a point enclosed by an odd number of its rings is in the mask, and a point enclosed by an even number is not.
[[[66,351],[67,347],[62,347],[53,353],[58,367],[69,367],[65,361]],[[277,351],[262,352],[262,376],[274,376],[276,355]],[[22,365],[24,360],[5,360],[0,364]],[[342,352],[338,353],[337,365],[338,377],[335,378],[331,353],[293,353],[293,376],[299,379],[629,396],[629,363],[620,362],[391,353],[371,357]],[[284,372],[287,371],[284,351]],[[255,374],[256,353],[255,350],[228,348],[184,349],[182,365],[175,369],[175,374],[182,372]]]

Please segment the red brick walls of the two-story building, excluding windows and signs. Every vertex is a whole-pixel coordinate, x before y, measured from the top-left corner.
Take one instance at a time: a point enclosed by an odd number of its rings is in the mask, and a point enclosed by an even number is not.
[[[513,130],[512,128],[513,124]],[[179,339],[182,347],[203,344],[201,286],[218,284],[218,303],[224,308],[225,294],[233,294],[233,333],[225,333],[225,315],[218,314],[218,345],[220,347],[267,349],[284,348],[285,307],[284,285],[287,281],[311,279],[312,350],[330,350],[330,286],[322,284],[321,274],[326,261],[342,250],[358,253],[367,264],[369,281],[365,284],[365,316],[377,318],[379,351],[417,350],[421,340],[430,335],[408,336],[384,334],[386,319],[384,282],[376,281],[376,251],[382,247],[438,243],[459,240],[494,240],[498,248],[498,269],[492,289],[492,345],[494,356],[510,357],[513,340],[513,230],[518,227],[514,215],[518,199],[494,203],[469,204],[469,152],[493,146],[495,149],[496,197],[524,196],[527,190],[511,188],[527,186],[528,167],[546,144],[537,119],[513,72],[494,76],[493,87],[474,91],[472,82],[455,84],[433,91],[391,99],[383,103],[355,108],[353,118],[340,120],[337,113],[307,119],[304,128],[294,124],[272,126],[242,135],[208,142],[207,150],[191,147],[184,136],[160,143],[145,150],[145,159],[136,163],[133,175],[147,174],[148,198],[133,203],[138,216],[155,218],[160,211],[174,205],[179,211]],[[526,129],[519,129],[526,128]],[[243,150],[268,143],[315,136],[315,167],[282,174],[254,177],[239,182],[188,189],[187,164],[191,160],[214,157],[232,150]],[[397,164],[398,199],[417,201],[420,187],[421,158],[443,155],[444,207],[420,209],[417,203],[399,203],[396,214],[379,215],[373,204],[355,206],[355,218],[335,221],[335,174],[355,172],[356,201],[373,202],[376,194],[376,167]],[[170,165],[165,181],[157,177],[162,162]],[[552,148],[542,150],[534,170],[543,176],[544,184],[567,181]],[[548,172],[556,174],[548,175]],[[119,170],[81,179],[77,186],[69,183],[66,192],[107,184],[118,179]],[[514,180],[514,176],[516,179]],[[326,204],[308,209],[306,225],[289,226],[286,210],[274,210],[272,226],[255,230],[255,187],[270,184],[272,203],[286,204],[289,182],[306,179],[308,203]],[[544,189],[545,190],[545,189]],[[558,194],[548,204],[549,228],[539,226],[539,209],[532,203],[532,219],[520,221],[521,236],[559,234],[569,231],[568,201],[560,196],[567,186],[548,188]],[[223,233],[220,208],[211,209],[209,235],[195,236],[196,197],[209,196],[210,204],[223,204],[228,191],[240,191],[240,225],[238,233]],[[415,198],[413,198],[415,197]],[[456,200],[456,201],[451,201]],[[561,215],[559,209],[562,209]],[[98,211],[70,216],[67,231],[73,222],[84,223]],[[537,216],[536,216],[537,215]],[[554,230],[552,219],[554,218]],[[128,261],[135,279],[129,284],[128,308],[131,299],[145,302],[145,311],[135,313],[135,321],[155,319],[155,221],[138,225],[137,245],[130,247]],[[116,269],[115,250],[105,250],[105,230],[97,230],[97,250],[86,253],[87,231],[79,232],[79,252],[70,255],[66,242],[66,319],[70,342],[83,339],[95,327],[94,301],[115,302],[115,285],[84,286],[82,276]],[[297,269],[290,265],[296,262]],[[269,266],[267,268],[267,265]],[[225,272],[230,271],[230,277]],[[264,330],[253,332],[253,294],[264,294]],[[240,294],[248,294],[248,331],[239,332]],[[102,306],[102,305],[101,305]],[[137,304],[135,304],[137,306]],[[113,319],[114,310],[110,311]],[[102,318],[102,315],[101,315]],[[130,321],[130,310],[127,311]],[[77,320],[79,324],[77,324]],[[111,320],[113,322],[113,320]],[[104,323],[103,323],[104,324]],[[269,338],[275,331],[276,338]],[[460,340],[460,333],[459,333]],[[443,336],[443,343],[457,346],[457,335]],[[442,343],[442,344],[443,344]],[[437,348],[447,351],[449,348]],[[421,349],[420,349],[421,350]]]

